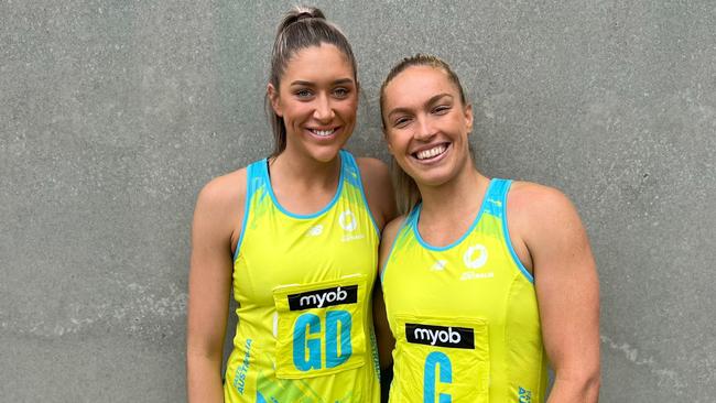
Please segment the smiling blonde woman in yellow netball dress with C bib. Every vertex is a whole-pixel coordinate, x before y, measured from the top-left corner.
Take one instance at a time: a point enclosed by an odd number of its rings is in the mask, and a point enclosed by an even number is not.
[[[596,402],[598,281],[574,206],[476,170],[471,107],[443,61],[403,59],[380,106],[405,214],[381,247],[390,401],[543,402],[550,362],[550,403]]]

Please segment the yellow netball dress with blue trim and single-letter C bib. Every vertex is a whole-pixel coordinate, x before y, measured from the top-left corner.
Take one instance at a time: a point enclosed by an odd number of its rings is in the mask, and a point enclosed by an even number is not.
[[[421,206],[399,230],[381,273],[395,336],[390,402],[544,400],[546,355],[532,275],[507,228],[511,182],[492,179],[480,213],[437,248],[419,231]]]

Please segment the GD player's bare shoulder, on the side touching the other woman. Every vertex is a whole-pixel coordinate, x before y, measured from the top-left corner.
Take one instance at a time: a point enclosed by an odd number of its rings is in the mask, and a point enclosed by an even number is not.
[[[395,198],[386,163],[372,157],[357,157],[360,177],[370,210],[380,229],[395,217]]]

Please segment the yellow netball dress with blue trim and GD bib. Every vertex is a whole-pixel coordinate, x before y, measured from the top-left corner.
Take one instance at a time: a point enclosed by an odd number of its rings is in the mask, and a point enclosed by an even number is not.
[[[336,195],[312,215],[279,205],[267,160],[247,168],[226,402],[380,399],[370,304],[378,228],[356,161],[346,151],[339,156]]]

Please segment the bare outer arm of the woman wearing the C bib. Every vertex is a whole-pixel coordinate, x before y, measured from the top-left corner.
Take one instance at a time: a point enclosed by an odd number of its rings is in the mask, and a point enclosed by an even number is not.
[[[560,192],[518,184],[513,211],[529,250],[544,347],[555,371],[549,403],[599,399],[599,282],[586,231]]]

